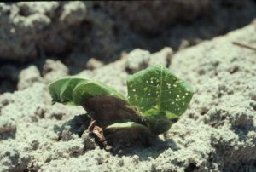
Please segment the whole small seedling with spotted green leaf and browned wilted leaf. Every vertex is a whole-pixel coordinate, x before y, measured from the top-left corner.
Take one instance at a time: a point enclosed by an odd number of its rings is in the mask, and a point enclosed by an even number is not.
[[[49,84],[49,94],[53,102],[83,106],[91,118],[90,131],[107,146],[105,135],[113,142],[141,138],[148,142],[165,133],[194,93],[189,83],[163,66],[131,75],[127,87],[126,98],[103,83],[64,77]]]

